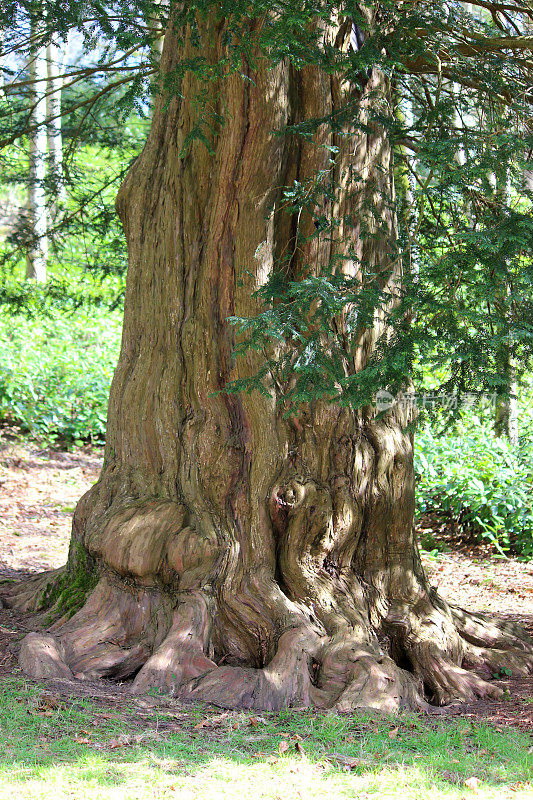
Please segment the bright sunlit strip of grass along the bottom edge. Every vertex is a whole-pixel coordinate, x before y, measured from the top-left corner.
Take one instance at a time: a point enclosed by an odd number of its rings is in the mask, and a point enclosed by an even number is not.
[[[24,797],[77,797],[97,800],[119,797],[180,798],[323,798],[332,797],[417,797],[461,798],[465,780],[453,771],[442,771],[421,754],[415,763],[385,757],[381,763],[350,766],[329,758],[286,756],[277,758],[258,753],[245,757],[236,751],[231,757],[183,752],[170,757],[155,752],[138,752],[128,760],[89,754],[55,764],[13,764],[2,777],[2,796],[23,791]],[[169,750],[171,746],[169,746]],[[331,758],[331,760],[329,760]],[[339,757],[340,758],[340,757]],[[347,762],[355,759],[346,758]],[[496,765],[497,767],[497,765]],[[3,769],[2,769],[3,772]],[[496,773],[501,775],[498,779]],[[505,769],[496,768],[489,780],[481,774],[485,798],[529,796],[526,784],[505,781]],[[476,777],[476,776],[471,776]],[[78,795],[79,793],[79,795]]]

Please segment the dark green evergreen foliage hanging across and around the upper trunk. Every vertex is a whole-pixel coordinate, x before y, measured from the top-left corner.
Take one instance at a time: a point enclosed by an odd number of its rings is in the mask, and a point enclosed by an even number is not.
[[[533,333],[533,224],[524,171],[533,146],[533,11],[520,0],[504,7],[471,5],[474,13],[460,2],[392,0],[372,4],[373,14],[353,0],[199,0],[172,7],[177,29],[188,28],[193,41],[202,15],[229,24],[225,57],[213,60],[199,47],[196,58],[166,76],[164,91],[175,91],[179,75],[187,72],[200,85],[235,72],[250,80],[254,60],[265,54],[272,63],[286,60],[296,69],[320,65],[355,88],[377,67],[391,87],[390,98],[375,102],[369,118],[361,121],[359,93],[353,91],[335,114],[292,120],[281,135],[311,140],[320,126],[327,126],[342,137],[348,121],[352,127],[379,125],[386,132],[397,174],[396,197],[387,202],[395,206],[399,220],[389,257],[404,263],[402,287],[392,292],[384,288],[379,270],[365,263],[357,277],[345,277],[335,255],[331,263],[309,265],[308,275],[293,275],[291,254],[282,254],[259,290],[264,311],[253,319],[235,320],[237,353],[248,347],[261,350],[265,367],[244,384],[230,384],[229,391],[269,391],[274,381],[289,410],[315,397],[358,407],[379,389],[396,393],[405,387],[405,376],[413,374],[418,362],[445,367],[446,388],[458,393],[508,391],[499,358],[502,348],[521,365],[527,363]],[[52,35],[66,40],[72,31],[80,42],[78,63],[64,70],[62,93],[65,172],[72,189],[53,238],[61,254],[66,236],[89,241],[87,253],[74,255],[74,260],[87,262],[86,268],[98,266],[104,273],[125,268],[110,200],[128,159],[99,185],[99,176],[88,180],[77,148],[96,138],[101,146],[121,148],[130,157],[139,151],[145,128],[132,130],[128,120],[133,112],[141,117],[149,113],[153,47],[169,13],[166,4],[153,0],[142,0],[134,12],[123,0],[74,3],[68,9],[57,0],[24,0],[7,3],[0,11],[5,42],[0,157],[12,182],[20,182],[23,172],[14,145],[24,141],[32,124],[24,80],[30,49],[46,44]],[[351,28],[348,49],[324,43],[324,25],[333,18]],[[192,138],[209,148],[210,135],[224,119],[219,111],[202,111]],[[311,181],[295,180],[285,187],[284,212],[294,220],[295,250],[309,215],[315,222],[312,236],[338,237],[339,220],[320,213],[322,200],[335,193],[333,175],[333,169],[326,169]],[[48,193],[54,195],[52,184]],[[371,220],[373,208],[365,214]],[[384,235],[379,220],[374,222],[373,232],[367,224],[366,235]],[[8,244],[15,250],[8,246],[4,251],[4,284],[9,284],[6,265],[10,259],[13,263],[24,238],[15,234]],[[246,270],[246,264],[241,266]],[[3,295],[7,299],[13,291]],[[354,349],[360,346],[356,333],[379,314],[389,323],[387,333],[365,369],[355,371]]]

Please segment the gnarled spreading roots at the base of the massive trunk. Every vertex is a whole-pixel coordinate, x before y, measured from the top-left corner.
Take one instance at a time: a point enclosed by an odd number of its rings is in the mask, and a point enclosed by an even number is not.
[[[11,589],[6,603],[35,610],[51,577]],[[283,631],[270,661],[253,668],[217,663],[209,652],[212,603],[203,592],[178,595],[172,608],[160,592],[107,577],[72,619],[26,636],[20,665],[36,679],[133,678],[136,694],[155,689],[228,709],[389,713],[497,698],[501,689],[486,678],[533,672],[533,643],[519,626],[450,608],[435,595],[431,600],[419,600],[401,618],[389,611],[383,620],[389,654],[362,642],[354,628],[327,636],[302,624]]]

